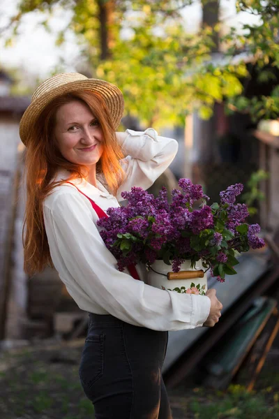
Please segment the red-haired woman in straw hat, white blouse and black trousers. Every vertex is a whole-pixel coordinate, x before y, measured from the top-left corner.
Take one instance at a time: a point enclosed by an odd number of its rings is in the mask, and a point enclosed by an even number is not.
[[[144,284],[140,267],[116,269],[96,225],[121,191],[149,188],[169,166],[177,142],[117,133],[121,91],[104,80],[63,73],[45,80],[20,122],[27,146],[24,269],[59,272],[89,328],[80,362],[82,388],[98,418],[171,418],[161,369],[167,331],[213,326],[222,304],[206,296]],[[140,279],[140,280],[138,280]]]

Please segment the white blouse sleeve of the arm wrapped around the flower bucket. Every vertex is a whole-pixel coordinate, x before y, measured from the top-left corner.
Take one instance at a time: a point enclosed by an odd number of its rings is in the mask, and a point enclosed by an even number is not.
[[[209,297],[163,291],[119,272],[80,196],[59,192],[44,216],[51,254],[54,241],[69,277],[93,302],[92,311],[95,302],[112,316],[153,330],[193,329],[206,321]]]

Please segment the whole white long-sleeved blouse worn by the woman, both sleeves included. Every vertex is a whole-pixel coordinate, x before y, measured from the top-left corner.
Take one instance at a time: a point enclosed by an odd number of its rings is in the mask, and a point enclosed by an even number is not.
[[[121,191],[132,186],[149,186],[174,159],[178,143],[158,136],[153,128],[116,133],[126,156],[121,165],[127,179],[116,197],[102,184],[93,186],[85,179],[71,180],[105,212],[119,207]],[[55,180],[67,179],[69,172],[59,170]],[[144,272],[137,265],[141,281],[128,270],[117,270],[116,258],[107,249],[96,225],[98,216],[89,200],[75,186],[56,186],[43,202],[43,215],[50,255],[68,293],[78,307],[96,314],[112,314],[127,323],[153,330],[182,330],[202,326],[209,316],[206,295],[179,294],[144,284]]]

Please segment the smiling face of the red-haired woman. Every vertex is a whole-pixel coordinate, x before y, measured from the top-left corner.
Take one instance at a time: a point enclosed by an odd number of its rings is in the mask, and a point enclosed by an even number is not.
[[[103,133],[91,110],[80,101],[56,111],[54,135],[65,159],[85,166],[96,165],[103,152]]]

